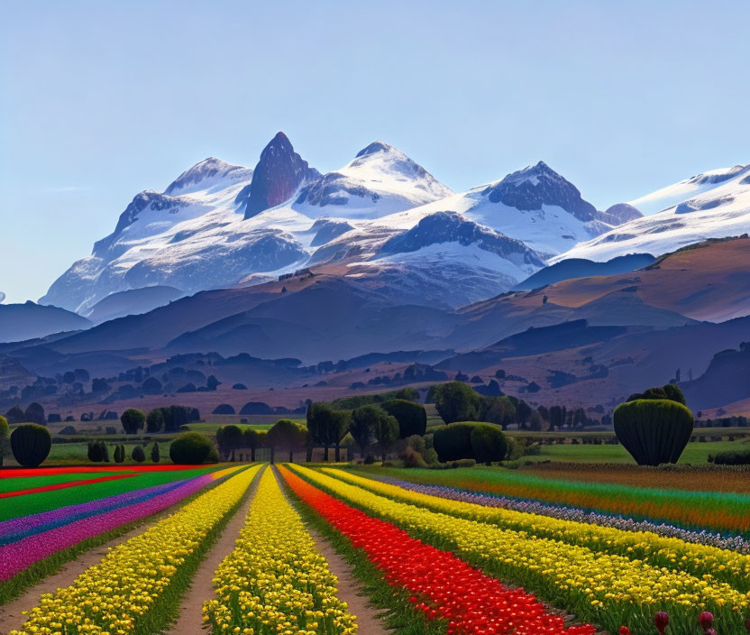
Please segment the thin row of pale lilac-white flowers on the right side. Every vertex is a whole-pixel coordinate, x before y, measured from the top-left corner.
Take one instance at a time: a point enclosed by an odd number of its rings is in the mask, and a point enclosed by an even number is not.
[[[591,525],[600,525],[601,527],[612,527],[615,529],[624,529],[626,531],[651,531],[659,536],[668,538],[680,538],[685,542],[691,542],[698,545],[709,545],[721,549],[730,549],[738,553],[750,553],[750,542],[739,536],[724,536],[710,531],[691,531],[681,529],[666,523],[654,523],[648,520],[633,520],[609,514],[597,513],[595,511],[583,511],[572,507],[562,505],[550,505],[543,502],[507,498],[505,496],[495,496],[489,493],[470,492],[445,485],[423,485],[419,483],[410,483],[392,476],[376,476],[379,481],[398,485],[405,490],[420,492],[439,496],[440,498],[450,499],[452,501],[473,502],[477,505],[486,507],[500,507],[513,511],[524,511],[526,513],[549,516],[560,520],[574,520],[576,522],[586,522]]]

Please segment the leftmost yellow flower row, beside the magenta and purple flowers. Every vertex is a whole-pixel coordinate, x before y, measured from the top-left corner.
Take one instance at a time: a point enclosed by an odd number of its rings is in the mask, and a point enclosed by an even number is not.
[[[240,469],[230,467],[217,477]],[[181,570],[240,502],[259,465],[230,476],[179,511],[111,549],[68,587],[41,595],[22,630],[10,635],[124,635],[158,632],[169,615],[160,600]]]

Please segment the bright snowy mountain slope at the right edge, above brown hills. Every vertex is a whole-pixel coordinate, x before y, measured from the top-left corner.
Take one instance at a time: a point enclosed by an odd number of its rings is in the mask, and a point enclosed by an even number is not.
[[[743,235],[750,230],[750,165],[710,170],[636,198],[630,205],[651,211],[553,259],[607,261],[627,253],[654,256],[708,238]]]

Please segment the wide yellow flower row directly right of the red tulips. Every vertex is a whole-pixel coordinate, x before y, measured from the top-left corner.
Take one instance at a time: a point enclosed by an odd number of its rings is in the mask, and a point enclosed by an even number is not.
[[[659,610],[671,613],[675,635],[692,633],[702,610],[717,615],[722,631],[743,628],[750,598],[713,575],[673,571],[637,558],[430,511],[310,468],[295,465],[293,469],[310,483],[393,522],[415,538],[452,550],[490,575],[522,584],[579,620],[599,623],[610,632],[617,632],[621,624],[645,629]]]

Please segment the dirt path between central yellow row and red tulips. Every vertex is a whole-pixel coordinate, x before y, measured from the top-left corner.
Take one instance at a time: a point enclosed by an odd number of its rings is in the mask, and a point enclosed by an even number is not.
[[[288,498],[286,485],[279,471],[274,468],[274,474],[279,482],[281,491]],[[328,568],[338,578],[338,596],[349,606],[349,611],[357,618],[357,635],[388,635],[391,630],[386,629],[384,623],[378,617],[382,611],[370,604],[370,599],[365,594],[360,581],[352,574],[352,566],[341,556],[316,529],[309,525],[307,531],[315,540],[317,550],[328,561]]]

